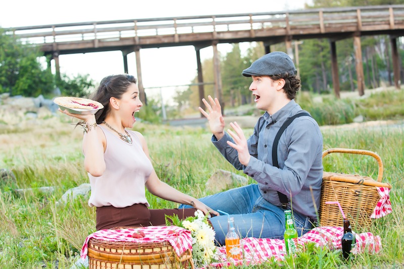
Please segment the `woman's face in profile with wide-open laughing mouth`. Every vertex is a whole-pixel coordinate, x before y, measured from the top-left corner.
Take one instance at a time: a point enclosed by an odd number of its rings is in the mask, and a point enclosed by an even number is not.
[[[119,100],[119,114],[124,127],[133,127],[133,124],[136,122],[135,113],[140,111],[142,105],[137,85],[135,83],[130,84],[127,91],[122,94],[122,98]]]

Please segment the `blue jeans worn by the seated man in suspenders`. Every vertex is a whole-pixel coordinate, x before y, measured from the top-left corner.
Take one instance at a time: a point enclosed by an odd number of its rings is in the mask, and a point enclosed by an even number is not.
[[[281,206],[273,205],[260,193],[258,184],[230,189],[198,199],[214,210],[220,209],[231,214],[240,238],[278,238],[283,239],[285,232],[285,214]],[[189,208],[181,204],[179,208]],[[301,236],[313,228],[308,217],[293,212],[295,228]],[[226,215],[210,218],[216,232],[216,243],[225,244],[227,234]]]

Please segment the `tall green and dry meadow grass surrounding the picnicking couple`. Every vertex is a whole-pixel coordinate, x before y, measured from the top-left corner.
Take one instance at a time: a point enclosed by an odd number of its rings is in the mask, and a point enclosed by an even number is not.
[[[18,188],[54,186],[53,193],[33,191],[19,195],[3,188],[0,192],[0,268],[70,268],[87,235],[95,231],[95,210],[88,197],[67,204],[59,202],[70,188],[87,183],[81,153],[82,130],[65,115],[27,121],[16,115],[19,126],[2,125],[0,168],[11,170]],[[5,127],[5,128],[3,128]],[[7,129],[7,130],[6,130]],[[224,169],[239,175],[210,142],[204,128],[171,128],[136,123],[134,129],[146,137],[159,177],[168,184],[196,197],[210,194],[207,179]],[[244,130],[248,136],[252,130]],[[324,149],[359,148],[377,152],[384,164],[383,182],[393,188],[393,212],[374,221],[369,232],[382,239],[378,254],[362,253],[346,264],[340,252],[307,247],[285,262],[269,260],[260,268],[282,265],[286,268],[393,268],[404,264],[404,128],[379,126],[352,128],[322,127]],[[356,173],[377,177],[377,163],[370,156],[330,154],[324,168],[331,172]],[[252,182],[252,180],[250,180]],[[176,207],[177,204],[147,194],[151,207]],[[239,268],[258,266],[239,266]]]

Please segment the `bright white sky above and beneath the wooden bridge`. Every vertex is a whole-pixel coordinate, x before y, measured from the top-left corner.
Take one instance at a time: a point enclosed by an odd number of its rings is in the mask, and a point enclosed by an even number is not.
[[[7,0],[0,4],[0,27],[299,10],[305,3],[311,0]],[[230,48],[230,44],[218,44],[223,53]],[[212,47],[201,49],[200,56],[202,61],[211,58]],[[160,91],[147,90],[148,87],[189,84],[196,76],[193,46],[141,49],[140,57],[146,94]],[[62,73],[89,74],[96,83],[105,76],[124,72],[121,51],[61,55],[59,61]],[[137,76],[134,52],[128,55],[128,69]],[[168,97],[173,90],[174,87],[164,88],[163,95]]]

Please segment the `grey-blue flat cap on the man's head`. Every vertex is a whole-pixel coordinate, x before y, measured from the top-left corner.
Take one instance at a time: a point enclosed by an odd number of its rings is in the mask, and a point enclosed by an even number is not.
[[[296,67],[292,59],[282,51],[270,52],[243,70],[242,75],[250,76],[273,76],[273,75],[295,75]]]

